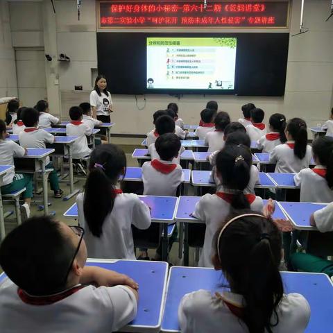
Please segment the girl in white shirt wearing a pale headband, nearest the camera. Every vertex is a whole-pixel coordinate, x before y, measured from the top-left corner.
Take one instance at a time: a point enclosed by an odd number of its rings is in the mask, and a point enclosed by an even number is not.
[[[178,308],[180,330],[305,332],[311,309],[299,293],[284,293],[279,272],[282,237],[273,221],[251,210],[232,212],[220,221],[224,223],[210,244],[212,262],[230,291],[201,289],[185,295]]]

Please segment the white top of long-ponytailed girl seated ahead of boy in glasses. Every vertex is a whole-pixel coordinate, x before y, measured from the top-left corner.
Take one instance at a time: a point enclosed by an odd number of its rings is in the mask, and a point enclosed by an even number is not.
[[[103,194],[101,194],[103,195]],[[136,194],[117,194],[112,212],[105,217],[103,234],[95,237],[90,232],[83,213],[83,196],[78,194],[78,222],[85,228],[85,243],[89,258],[135,260],[131,225],[147,229],[151,225],[149,207]]]

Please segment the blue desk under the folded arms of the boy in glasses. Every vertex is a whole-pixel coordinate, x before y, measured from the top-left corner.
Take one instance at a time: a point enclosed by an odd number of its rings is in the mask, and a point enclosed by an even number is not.
[[[99,266],[126,274],[139,284],[137,316],[119,332],[160,332],[168,276],[166,262],[87,259],[86,266]],[[1,281],[5,278],[6,274],[2,273],[0,288]]]

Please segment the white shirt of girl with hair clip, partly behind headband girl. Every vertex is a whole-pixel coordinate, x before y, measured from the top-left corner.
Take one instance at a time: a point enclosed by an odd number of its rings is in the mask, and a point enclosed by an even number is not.
[[[223,191],[222,188],[219,190]],[[216,196],[216,194],[205,194],[196,204],[194,216],[206,224],[205,241],[198,266],[212,267],[211,256],[214,235],[229,214],[230,207],[227,201]],[[262,198],[259,196],[250,205],[250,209],[256,212],[262,212],[263,207]]]

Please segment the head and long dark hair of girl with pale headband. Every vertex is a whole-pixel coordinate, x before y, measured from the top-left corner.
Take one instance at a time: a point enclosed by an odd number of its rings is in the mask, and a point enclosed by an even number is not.
[[[246,331],[273,332],[283,297],[278,227],[258,212],[232,212],[216,232],[213,248],[214,267],[223,271],[231,291],[244,297],[239,321]]]

